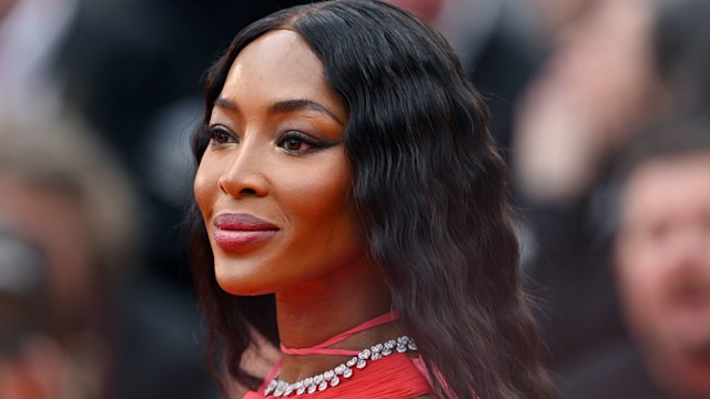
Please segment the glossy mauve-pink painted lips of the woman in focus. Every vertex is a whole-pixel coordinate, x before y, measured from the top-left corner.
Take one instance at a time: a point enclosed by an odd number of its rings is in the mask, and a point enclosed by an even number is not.
[[[248,214],[220,214],[214,218],[214,242],[226,250],[264,243],[278,232],[275,225]]]

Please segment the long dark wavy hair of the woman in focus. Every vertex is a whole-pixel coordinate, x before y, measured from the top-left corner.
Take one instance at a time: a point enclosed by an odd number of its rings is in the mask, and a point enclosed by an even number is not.
[[[307,42],[348,111],[344,146],[367,247],[429,371],[443,376],[436,395],[554,397],[518,282],[506,167],[486,127],[486,105],[446,41],[412,14],[379,1],[336,0],[245,28],[207,72],[196,161],[234,59],[276,29]],[[209,359],[254,389],[261,380],[240,360],[255,331],[277,341],[273,295],[239,297],[217,286],[196,206],[191,239]]]

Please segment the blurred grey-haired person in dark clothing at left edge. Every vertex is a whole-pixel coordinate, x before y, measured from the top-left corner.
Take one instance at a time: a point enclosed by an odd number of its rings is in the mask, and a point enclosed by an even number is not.
[[[190,304],[139,278],[132,186],[69,122],[0,122],[0,397],[206,398]]]

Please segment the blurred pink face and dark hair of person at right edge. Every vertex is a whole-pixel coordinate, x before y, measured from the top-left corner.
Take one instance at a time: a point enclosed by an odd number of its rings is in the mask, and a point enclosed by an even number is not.
[[[710,398],[710,119],[658,127],[618,180],[613,272],[643,364],[668,397]],[[604,383],[630,385],[617,369]]]

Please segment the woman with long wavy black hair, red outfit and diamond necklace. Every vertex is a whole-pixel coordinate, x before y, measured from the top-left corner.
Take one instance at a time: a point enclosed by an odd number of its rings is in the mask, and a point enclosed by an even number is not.
[[[504,164],[438,34],[378,1],[283,10],[205,105],[194,272],[247,398],[552,396]],[[240,365],[258,335],[283,352],[264,381]]]

